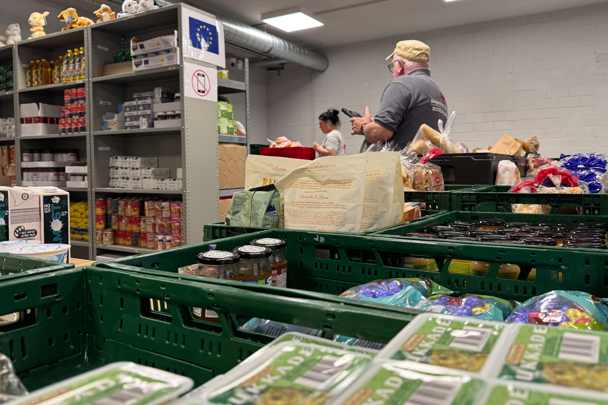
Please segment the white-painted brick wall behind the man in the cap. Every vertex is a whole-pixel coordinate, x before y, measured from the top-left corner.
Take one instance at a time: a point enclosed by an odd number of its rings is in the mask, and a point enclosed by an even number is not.
[[[409,38],[429,44],[432,77],[457,112],[454,138],[469,149],[508,132],[536,135],[547,156],[608,153],[608,3],[325,49],[330,67],[314,79],[294,64],[267,73],[269,137],[310,145],[326,108],[373,114],[392,79],[384,58]],[[360,137],[340,117],[354,153]]]

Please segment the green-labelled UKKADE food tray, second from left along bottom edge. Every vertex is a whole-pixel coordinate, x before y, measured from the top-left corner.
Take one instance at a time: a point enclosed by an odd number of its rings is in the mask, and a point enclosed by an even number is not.
[[[371,360],[339,348],[283,342],[189,398],[206,404],[322,405],[350,386]]]

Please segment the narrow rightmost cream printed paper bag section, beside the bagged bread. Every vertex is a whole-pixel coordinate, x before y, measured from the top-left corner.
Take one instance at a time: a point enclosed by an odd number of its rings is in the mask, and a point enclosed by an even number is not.
[[[361,231],[398,224],[404,204],[399,153],[370,152],[363,155],[367,159],[367,168]]]

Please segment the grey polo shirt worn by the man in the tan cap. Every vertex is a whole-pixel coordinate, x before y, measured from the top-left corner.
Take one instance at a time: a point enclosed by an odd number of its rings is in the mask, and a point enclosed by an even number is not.
[[[402,149],[413,139],[423,123],[439,130],[438,120],[447,121],[446,99],[429,69],[416,69],[393,79],[382,92],[374,122],[393,133],[390,139]],[[370,145],[364,140],[361,152]]]

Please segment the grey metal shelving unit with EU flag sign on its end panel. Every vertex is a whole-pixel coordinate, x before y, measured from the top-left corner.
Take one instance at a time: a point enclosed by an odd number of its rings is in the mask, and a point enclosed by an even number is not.
[[[203,226],[218,221],[219,180],[218,142],[246,144],[249,150],[249,61],[246,60],[246,81],[218,79],[218,94],[244,92],[246,97],[247,137],[220,135],[217,133],[217,107],[215,102],[185,97],[184,62],[204,67],[208,63],[184,57],[180,52],[179,64],[141,72],[101,76],[98,65],[112,63],[115,52],[128,51],[130,40],[137,36],[145,41],[178,31],[182,38],[182,10],[213,15],[185,4],[175,4],[145,13],[100,22],[80,29],[49,33],[41,38],[21,41],[0,48],[0,63],[13,58],[15,91],[0,93],[0,116],[11,109],[16,121],[17,182],[21,185],[21,150],[23,148],[77,148],[79,160],[88,162],[88,189],[69,189],[74,195],[86,198],[89,203],[89,243],[74,240],[73,246],[88,249],[89,258],[104,252],[148,252],[136,246],[103,246],[95,244],[95,199],[159,195],[184,201],[184,243],[202,242]],[[55,60],[66,50],[85,47],[85,80],[56,85],[26,88],[25,67],[34,59]],[[116,105],[132,100],[134,92],[151,91],[155,86],[173,88],[181,92],[181,121],[171,128],[104,131],[102,117],[106,112],[116,112]],[[87,105],[87,132],[71,135],[20,136],[19,103],[44,102],[63,105],[66,88],[85,87]],[[103,103],[100,103],[103,102]],[[7,114],[10,115],[10,114]],[[0,144],[4,139],[0,139]],[[7,141],[10,142],[10,141]],[[183,169],[183,190],[114,189],[108,187],[109,157],[115,154],[157,156],[160,167],[169,167],[171,176],[176,168]],[[226,191],[223,191],[225,194]]]

